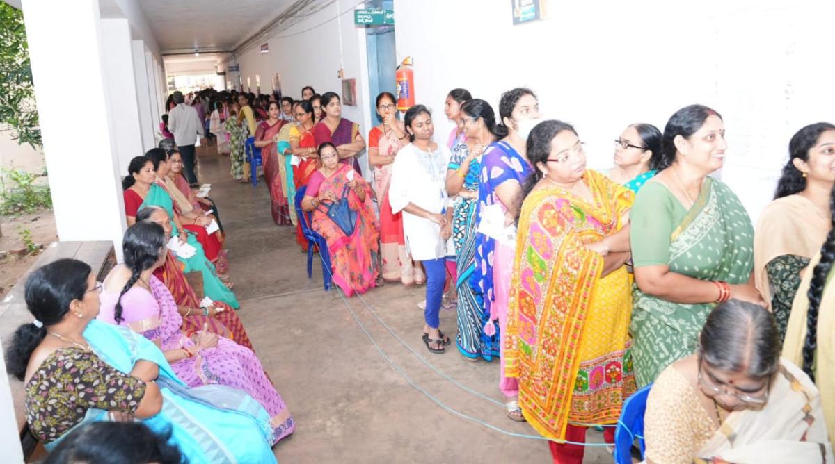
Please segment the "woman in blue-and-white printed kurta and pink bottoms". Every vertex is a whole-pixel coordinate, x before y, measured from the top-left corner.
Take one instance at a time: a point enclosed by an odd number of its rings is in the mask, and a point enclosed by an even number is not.
[[[504,92],[498,103],[502,124],[496,132],[501,140],[484,150],[481,158],[481,175],[478,178],[478,217],[476,227],[486,221],[485,215],[501,222],[497,227],[508,227],[516,222],[522,205],[522,184],[533,169],[525,157],[526,140],[530,130],[539,122],[539,102],[529,88],[518,87]],[[507,234],[505,234],[507,235]],[[498,388],[504,395],[508,417],[524,422],[519,408],[519,382],[515,377],[505,377],[504,332],[507,327],[510,277],[514,266],[514,237],[500,242],[476,232],[475,271],[473,279],[483,295],[484,311],[489,321],[484,325],[488,336],[497,335],[494,322],[498,321],[499,351],[502,352]]]

